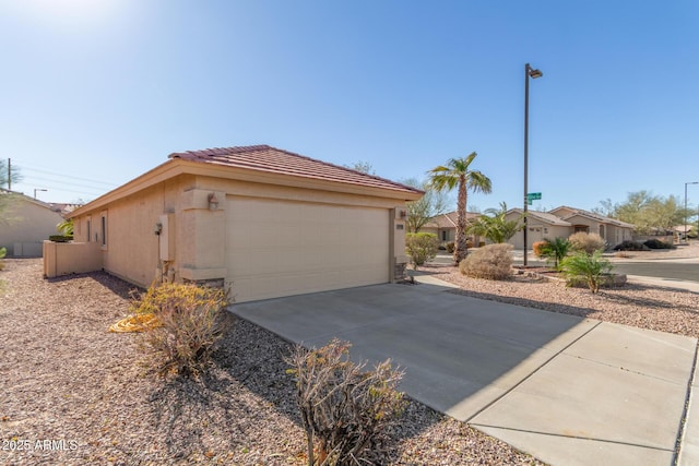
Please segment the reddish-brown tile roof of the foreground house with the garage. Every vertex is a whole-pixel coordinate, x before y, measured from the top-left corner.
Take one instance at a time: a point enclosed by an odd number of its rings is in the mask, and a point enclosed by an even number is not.
[[[168,157],[392,191],[423,193],[423,191],[418,189],[384,178],[363,174],[352,168],[317,160],[269,145],[187,151],[170,154]]]

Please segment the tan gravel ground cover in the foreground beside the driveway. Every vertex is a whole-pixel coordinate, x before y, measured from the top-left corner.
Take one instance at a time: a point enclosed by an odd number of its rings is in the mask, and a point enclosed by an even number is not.
[[[226,315],[204,375],[158,378],[139,335],[107,332],[130,285],[42,272],[40,260],[0,272],[0,464],[305,464],[286,342]],[[542,464],[412,401],[391,437],[386,464]]]

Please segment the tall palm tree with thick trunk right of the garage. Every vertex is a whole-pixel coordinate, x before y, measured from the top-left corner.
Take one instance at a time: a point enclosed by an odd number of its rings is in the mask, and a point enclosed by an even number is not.
[[[457,198],[457,238],[454,244],[454,262],[458,264],[466,256],[466,201],[469,190],[473,192],[490,192],[490,179],[481,171],[469,167],[476,153],[465,158],[450,158],[447,165],[440,165],[428,171],[429,184],[436,191],[451,191],[458,188]]]

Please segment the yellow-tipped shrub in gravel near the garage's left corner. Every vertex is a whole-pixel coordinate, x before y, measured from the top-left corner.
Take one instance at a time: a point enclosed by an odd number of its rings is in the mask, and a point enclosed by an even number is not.
[[[135,313],[152,312],[162,324],[144,334],[158,355],[162,373],[193,374],[209,360],[221,335],[221,311],[228,303],[220,288],[193,284],[152,285],[131,303]]]

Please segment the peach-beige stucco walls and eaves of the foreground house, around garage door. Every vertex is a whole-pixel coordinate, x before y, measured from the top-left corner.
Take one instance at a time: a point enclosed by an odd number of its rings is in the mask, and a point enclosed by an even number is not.
[[[270,181],[274,179],[271,178]],[[387,212],[404,205],[401,199],[202,175],[179,175],[142,191],[130,189],[125,192],[127,194],[121,199],[103,202],[93,210],[88,204],[74,214],[74,236],[75,241],[96,242],[99,246],[106,271],[140,286],[149,286],[155,278],[163,276],[175,280],[226,278],[227,196],[372,206],[387,208]],[[218,200],[215,210],[210,210],[210,194],[215,194]],[[400,196],[401,193],[396,195]],[[167,215],[168,231],[161,232],[158,237],[154,230],[157,224],[162,224],[163,215]],[[100,231],[103,216],[107,222],[107,241],[104,247]],[[87,237],[88,220],[91,238]],[[174,243],[170,244],[170,261],[164,263],[158,260],[158,240]],[[400,235],[398,241],[404,244]],[[404,246],[395,244],[394,249],[403,251]]]

